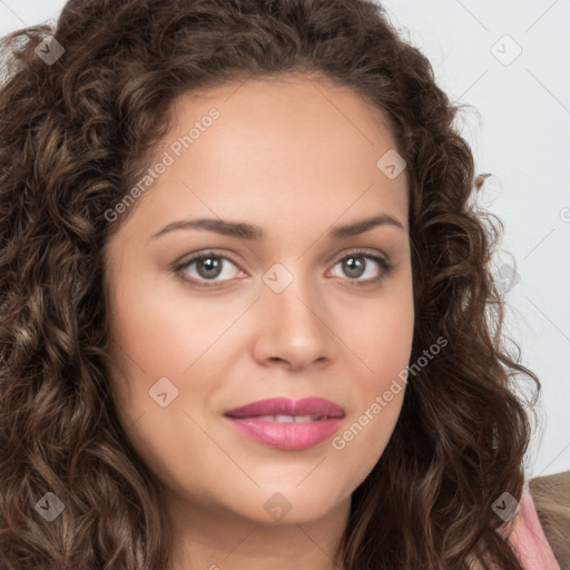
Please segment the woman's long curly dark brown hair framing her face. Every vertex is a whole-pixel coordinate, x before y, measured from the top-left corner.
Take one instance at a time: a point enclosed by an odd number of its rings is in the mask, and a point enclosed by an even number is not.
[[[46,36],[65,50],[49,65],[37,53]],[[389,118],[407,165],[412,360],[434,336],[449,342],[409,383],[384,453],[352,495],[345,570],[521,570],[492,505],[523,491],[535,399],[528,405],[513,381],[541,386],[502,333],[490,269],[501,223],[472,199],[484,175],[454,125],[460,106],[383,8],[69,0],[55,29],[18,30],[1,48],[2,570],[168,568],[161,483],[108,384],[104,253],[135,208],[114,224],[104,213],[140,179],[177,97],[285,73],[350,87]],[[48,492],[65,504],[50,523],[35,509]]]

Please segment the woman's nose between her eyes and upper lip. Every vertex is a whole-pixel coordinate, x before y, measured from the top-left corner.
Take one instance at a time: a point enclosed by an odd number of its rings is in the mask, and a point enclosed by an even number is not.
[[[264,285],[254,355],[263,365],[291,371],[324,367],[335,357],[338,337],[322,294],[295,277],[277,293]]]

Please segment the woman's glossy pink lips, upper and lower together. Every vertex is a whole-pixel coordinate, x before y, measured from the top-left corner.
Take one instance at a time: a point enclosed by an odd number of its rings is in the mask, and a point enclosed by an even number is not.
[[[289,400],[273,397],[236,407],[224,414],[247,439],[269,448],[305,450],[331,438],[343,423],[344,410],[322,397]],[[321,419],[296,423],[279,423],[267,415],[320,415]]]

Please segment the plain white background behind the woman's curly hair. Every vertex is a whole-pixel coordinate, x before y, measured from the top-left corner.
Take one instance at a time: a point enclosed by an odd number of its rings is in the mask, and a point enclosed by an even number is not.
[[[0,35],[57,19],[63,4],[0,0]],[[474,108],[458,125],[476,171],[493,175],[481,204],[505,226],[497,269],[518,275],[507,283],[507,332],[543,386],[527,474],[570,470],[570,2],[383,6],[451,100]]]

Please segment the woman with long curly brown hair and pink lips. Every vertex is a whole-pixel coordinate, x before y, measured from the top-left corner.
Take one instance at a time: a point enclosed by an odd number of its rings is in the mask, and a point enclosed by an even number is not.
[[[558,568],[483,177],[381,9],[49,31],[4,40],[2,568]]]

